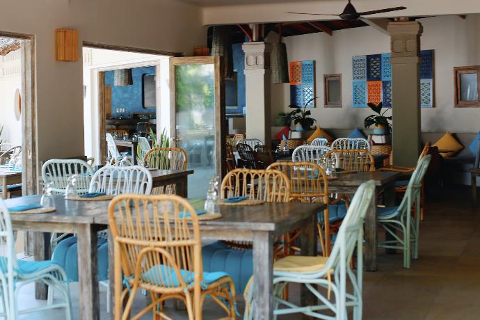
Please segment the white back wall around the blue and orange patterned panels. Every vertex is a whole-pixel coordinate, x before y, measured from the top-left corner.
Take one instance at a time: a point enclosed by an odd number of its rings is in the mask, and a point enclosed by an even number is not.
[[[420,19],[424,26],[422,49],[435,49],[435,108],[422,109],[422,131],[477,133],[480,108],[454,108],[453,68],[480,65],[480,15]],[[390,52],[390,37],[370,26],[312,33],[284,38],[289,61],[314,60],[317,72],[317,108],[312,117],[321,127],[346,129],[363,127],[371,111],[352,108],[352,56]],[[342,74],[342,108],[323,107],[323,74]],[[272,119],[278,111],[289,112],[289,84],[272,84]]]

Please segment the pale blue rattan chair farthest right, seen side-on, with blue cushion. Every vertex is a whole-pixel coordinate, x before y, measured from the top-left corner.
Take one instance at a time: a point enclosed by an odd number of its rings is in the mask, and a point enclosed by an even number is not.
[[[392,236],[392,239],[378,242],[378,246],[403,250],[404,268],[410,268],[410,257],[418,259],[420,192],[422,179],[426,169],[429,168],[430,160],[431,155],[429,154],[419,159],[399,207],[378,208],[378,223]],[[414,206],[415,215],[412,216]],[[412,243],[413,250],[410,249]]]

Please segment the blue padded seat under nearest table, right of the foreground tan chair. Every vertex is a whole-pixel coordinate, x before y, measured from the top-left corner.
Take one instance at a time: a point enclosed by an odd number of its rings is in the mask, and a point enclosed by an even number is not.
[[[203,271],[224,272],[232,278],[235,290],[242,293],[253,275],[252,250],[235,250],[223,241],[202,246]]]

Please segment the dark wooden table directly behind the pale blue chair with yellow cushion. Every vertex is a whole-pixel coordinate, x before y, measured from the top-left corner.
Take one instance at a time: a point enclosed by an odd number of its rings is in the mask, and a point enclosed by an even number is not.
[[[395,205],[395,179],[400,173],[388,171],[376,171],[373,173],[344,173],[337,174],[337,179],[328,181],[328,192],[353,194],[357,191],[360,184],[371,179],[375,180],[376,193],[383,191],[385,205],[392,207]],[[365,269],[367,271],[377,271],[377,203],[376,197],[373,197],[365,216]]]

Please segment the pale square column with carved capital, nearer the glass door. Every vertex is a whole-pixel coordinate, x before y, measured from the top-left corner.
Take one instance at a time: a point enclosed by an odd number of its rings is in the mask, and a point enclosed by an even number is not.
[[[245,42],[245,103],[247,138],[270,146],[270,51],[266,42]]]

